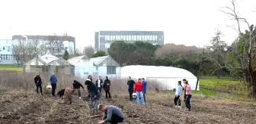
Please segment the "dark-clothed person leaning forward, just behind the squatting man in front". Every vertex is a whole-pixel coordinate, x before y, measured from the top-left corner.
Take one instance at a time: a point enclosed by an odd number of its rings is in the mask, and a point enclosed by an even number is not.
[[[98,103],[100,102],[101,94],[98,91],[98,88],[96,85],[94,85],[93,82],[91,82],[91,79],[86,79],[85,85],[88,85],[89,87],[89,94],[91,99],[91,109],[94,112],[97,111]]]

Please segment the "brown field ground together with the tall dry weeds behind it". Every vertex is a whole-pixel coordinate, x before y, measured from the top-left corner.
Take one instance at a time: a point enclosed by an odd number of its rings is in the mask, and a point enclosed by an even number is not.
[[[49,75],[49,74],[48,74]],[[49,76],[42,75],[44,85]],[[36,95],[34,75],[1,73],[0,123],[97,123],[101,116],[89,113],[88,102],[75,95],[72,105],[61,104],[50,95]],[[71,87],[72,76],[59,76],[58,88]],[[79,80],[79,79],[77,79]],[[82,80],[81,80],[82,82]],[[154,85],[152,85],[152,83]],[[112,79],[113,100],[102,97],[102,103],[114,104],[125,113],[123,123],[254,123],[256,119],[254,104],[248,102],[226,101],[194,95],[192,111],[175,109],[170,92],[155,92],[156,85],[149,82],[147,104],[138,106],[128,101],[126,82]],[[45,93],[45,90],[44,90]],[[104,93],[104,92],[103,92]],[[86,96],[87,91],[82,91]]]

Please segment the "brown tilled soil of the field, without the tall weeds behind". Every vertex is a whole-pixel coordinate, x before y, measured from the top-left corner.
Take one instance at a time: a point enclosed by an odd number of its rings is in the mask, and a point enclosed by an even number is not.
[[[168,98],[168,99],[167,99]],[[97,123],[101,117],[91,119],[88,104],[74,97],[72,105],[61,104],[47,95],[5,93],[0,96],[0,123]],[[154,95],[148,97],[145,106],[138,106],[125,97],[103,99],[105,104],[121,107],[125,122],[140,123],[254,123],[256,109],[253,104],[213,101],[210,98],[192,98],[190,112],[173,106],[173,96]],[[165,100],[164,100],[165,99]]]

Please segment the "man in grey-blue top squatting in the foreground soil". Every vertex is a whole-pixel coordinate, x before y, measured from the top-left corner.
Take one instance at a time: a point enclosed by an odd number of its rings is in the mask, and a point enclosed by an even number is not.
[[[103,119],[98,124],[109,122],[111,124],[117,124],[123,122],[124,116],[122,110],[114,105],[99,104],[98,110],[104,113]]]

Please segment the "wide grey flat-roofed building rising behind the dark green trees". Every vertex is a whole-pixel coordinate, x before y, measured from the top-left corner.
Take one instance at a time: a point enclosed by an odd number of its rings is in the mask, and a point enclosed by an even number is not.
[[[114,41],[150,42],[153,45],[164,45],[163,31],[99,31],[94,35],[95,51],[107,51]]]

